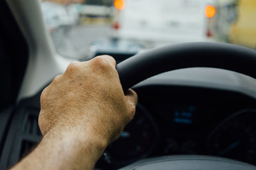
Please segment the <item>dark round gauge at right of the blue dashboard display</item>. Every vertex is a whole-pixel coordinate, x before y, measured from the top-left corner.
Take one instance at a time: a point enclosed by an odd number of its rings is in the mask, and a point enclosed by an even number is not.
[[[256,111],[240,111],[209,136],[209,154],[256,164]]]

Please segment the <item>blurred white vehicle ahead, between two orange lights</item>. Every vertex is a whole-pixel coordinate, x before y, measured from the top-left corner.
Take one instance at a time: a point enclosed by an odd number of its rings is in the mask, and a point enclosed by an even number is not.
[[[117,36],[147,43],[148,48],[170,43],[207,41],[208,0],[129,0],[120,11]]]

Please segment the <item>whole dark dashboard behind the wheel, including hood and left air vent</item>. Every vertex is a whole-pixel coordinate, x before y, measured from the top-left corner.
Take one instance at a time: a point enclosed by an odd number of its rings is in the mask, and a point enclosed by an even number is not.
[[[179,73],[179,74],[178,74]],[[255,80],[218,69],[159,74],[134,86],[139,104],[120,138],[106,148],[97,169],[118,169],[164,155],[214,155],[256,162]],[[22,99],[6,126],[0,169],[42,138],[40,94]]]

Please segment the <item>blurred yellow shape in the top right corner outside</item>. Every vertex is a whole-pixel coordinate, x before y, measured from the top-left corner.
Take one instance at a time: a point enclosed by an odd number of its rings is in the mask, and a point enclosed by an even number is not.
[[[256,48],[256,0],[239,0],[238,17],[230,25],[230,43]]]

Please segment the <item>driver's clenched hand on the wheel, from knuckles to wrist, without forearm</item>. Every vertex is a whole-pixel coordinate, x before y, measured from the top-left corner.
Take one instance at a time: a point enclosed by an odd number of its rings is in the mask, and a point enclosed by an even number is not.
[[[104,55],[72,62],[56,76],[41,96],[42,134],[81,127],[107,143],[117,139],[134,117],[137,97],[132,90],[124,95],[115,66],[115,59]]]

